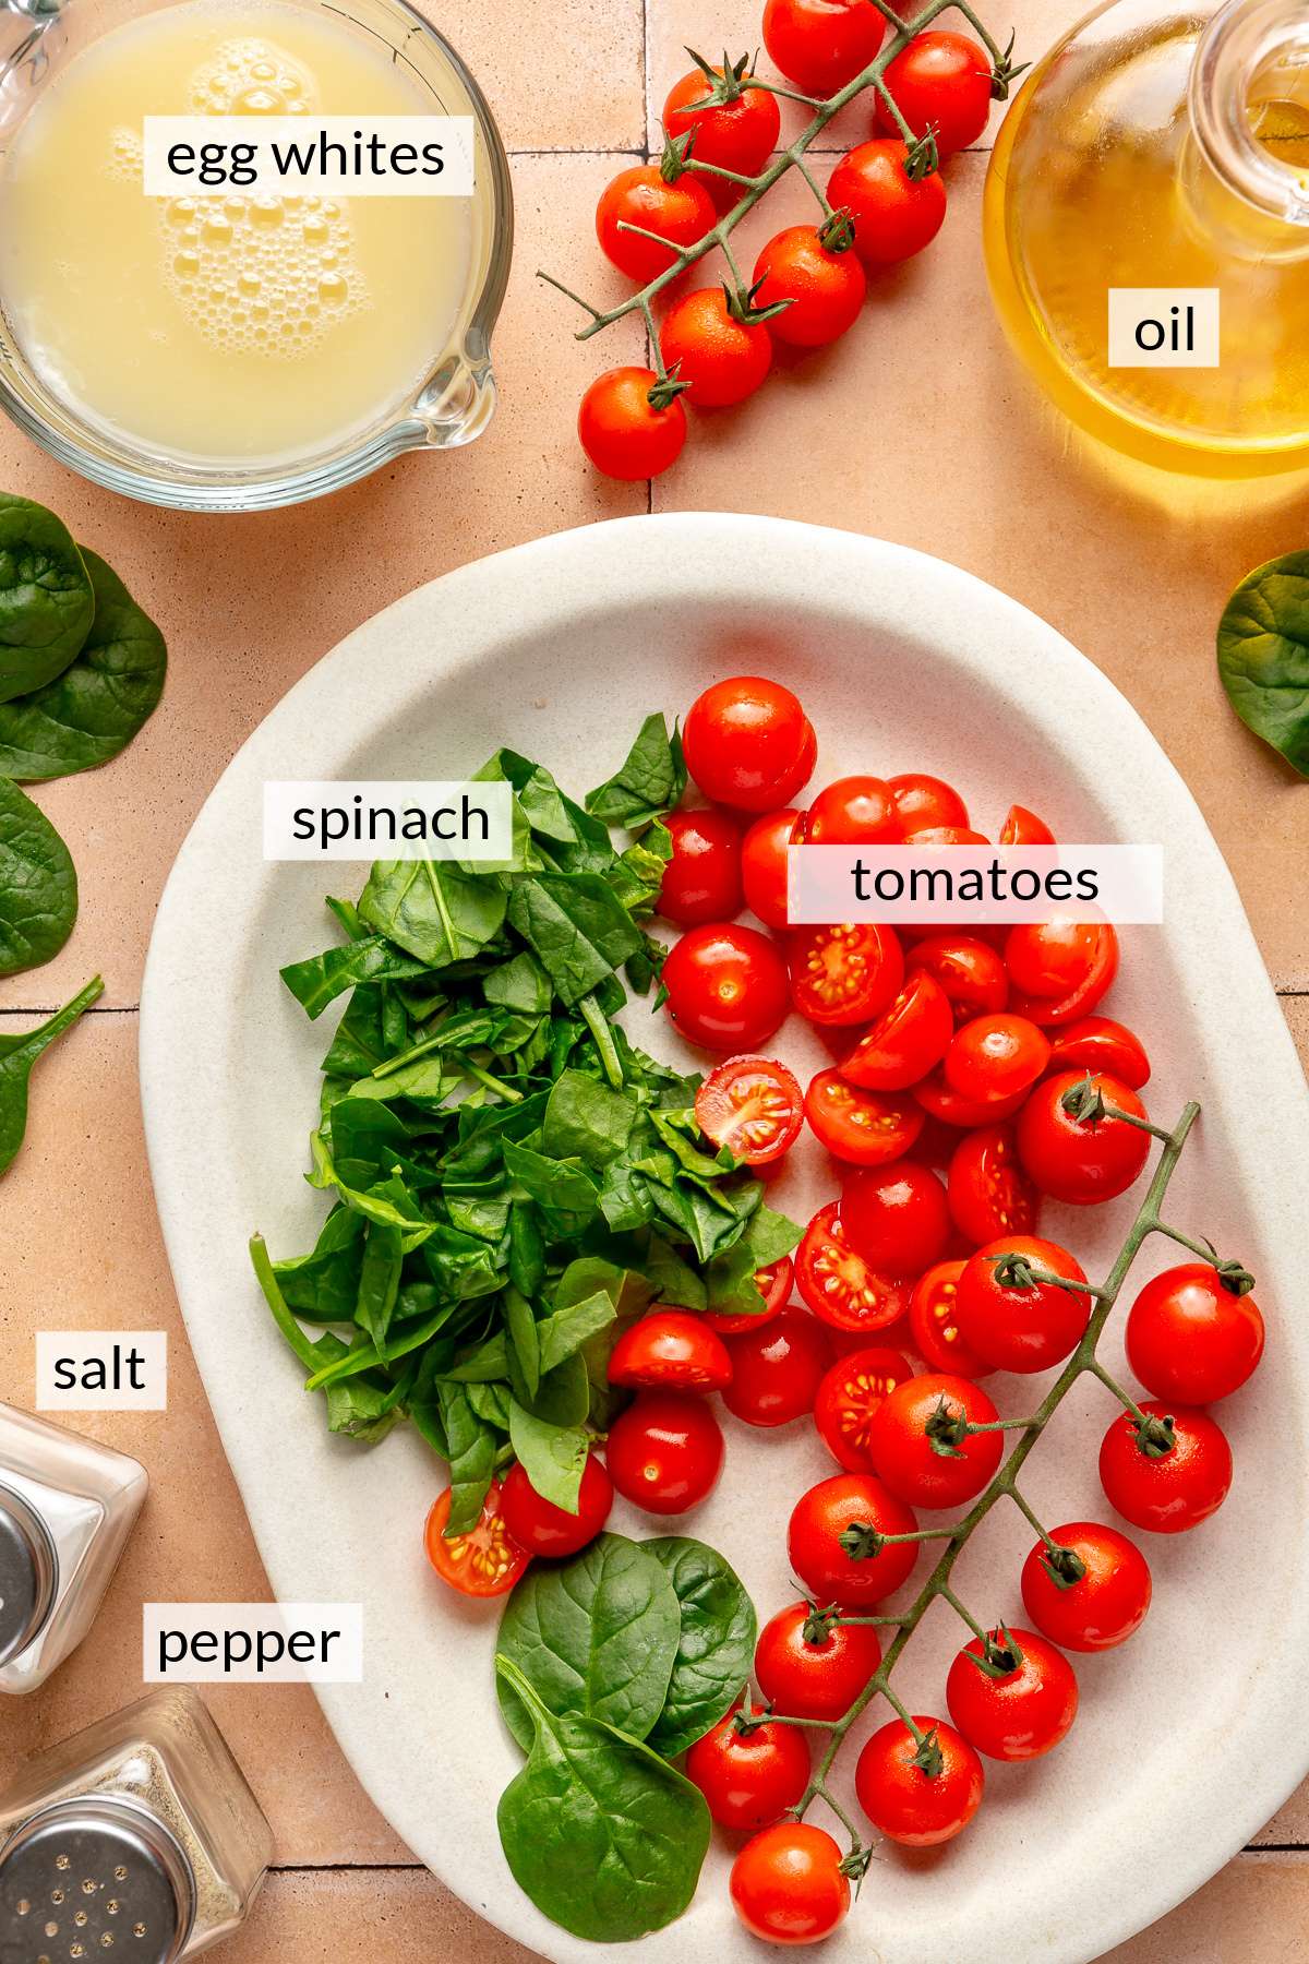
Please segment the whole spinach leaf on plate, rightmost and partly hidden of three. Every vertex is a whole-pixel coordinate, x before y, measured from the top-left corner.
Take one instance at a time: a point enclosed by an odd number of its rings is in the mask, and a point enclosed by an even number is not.
[[[756,1644],[754,1603],[722,1555],[681,1534],[642,1542],[663,1567],[681,1605],[681,1636],[667,1699],[652,1748],[675,1760],[732,1709],[750,1677]]]

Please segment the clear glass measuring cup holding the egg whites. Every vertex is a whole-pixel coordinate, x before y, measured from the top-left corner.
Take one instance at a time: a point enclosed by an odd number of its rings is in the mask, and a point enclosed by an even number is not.
[[[163,438],[141,438],[118,418],[88,409],[61,387],[49,363],[37,363],[18,332],[16,306],[6,297],[6,242],[0,238],[0,407],[61,464],[96,483],[155,505],[188,511],[261,511],[320,497],[379,469],[404,450],[449,450],[479,436],[495,410],[491,332],[504,299],[512,249],[508,161],[491,110],[455,51],[406,0],[281,0],[308,16],[306,29],[341,22],[365,35],[387,63],[398,65],[416,108],[440,116],[469,116],[475,136],[477,189],[469,200],[467,269],[449,330],[432,328],[422,346],[422,322],[410,314],[404,330],[418,334],[420,359],[406,379],[379,395],[365,418],[345,434],[310,440],[288,452],[208,456]],[[157,0],[0,0],[0,181],[22,137],[26,118],[49,90],[106,35],[151,18],[175,20],[181,8]],[[161,102],[159,112],[183,112],[184,102]],[[365,104],[367,110],[367,104]],[[361,114],[365,110],[355,110]],[[63,194],[63,191],[59,191]],[[139,191],[137,191],[139,194]],[[363,200],[359,200],[363,202]],[[394,200],[383,200],[394,202]],[[438,200],[410,200],[418,208]],[[391,320],[398,302],[393,295]],[[414,306],[422,300],[412,299]],[[149,350],[143,354],[149,367]],[[253,448],[253,446],[251,446]]]

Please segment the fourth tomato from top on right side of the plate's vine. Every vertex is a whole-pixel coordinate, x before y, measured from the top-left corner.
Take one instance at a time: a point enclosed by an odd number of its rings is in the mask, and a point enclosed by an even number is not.
[[[950,1665],[946,1705],[989,1760],[1040,1760],[1077,1717],[1077,1677],[1034,1630],[991,1630],[987,1646],[973,1638]]]

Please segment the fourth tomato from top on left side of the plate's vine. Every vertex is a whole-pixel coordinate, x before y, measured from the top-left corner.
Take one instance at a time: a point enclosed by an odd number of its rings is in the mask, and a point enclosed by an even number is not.
[[[885,1406],[883,1406],[885,1410]],[[918,1522],[871,1473],[834,1473],[801,1495],[791,1510],[787,1550],[811,1601],[858,1610],[909,1581],[918,1542],[877,1536],[915,1534]]]

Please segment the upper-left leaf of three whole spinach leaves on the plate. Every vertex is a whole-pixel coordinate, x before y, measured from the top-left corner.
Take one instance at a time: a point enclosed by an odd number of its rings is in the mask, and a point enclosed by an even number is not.
[[[667,1567],[622,1534],[571,1561],[532,1567],[500,1618],[497,1650],[551,1713],[604,1718],[646,1738],[667,1699],[681,1609]],[[504,1722],[526,1752],[532,1718],[500,1681]]]

